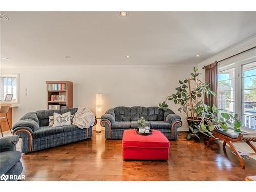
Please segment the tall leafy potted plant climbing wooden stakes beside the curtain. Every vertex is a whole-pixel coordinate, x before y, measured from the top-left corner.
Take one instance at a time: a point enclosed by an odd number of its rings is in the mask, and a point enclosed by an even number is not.
[[[180,86],[176,88],[176,94],[167,96],[165,101],[159,103],[159,108],[166,111],[168,107],[166,101],[173,100],[175,104],[180,104],[178,111],[183,111],[187,116],[189,133],[187,139],[192,136],[199,138],[199,132],[212,137],[211,131],[214,129],[228,129],[228,124],[233,124],[234,131],[241,132],[241,123],[238,120],[238,115],[229,113],[219,114],[218,108],[214,105],[210,106],[204,103],[204,96],[215,96],[215,92],[210,90],[209,84],[198,79],[200,73],[194,67],[194,72],[190,73],[191,77],[185,80],[179,80]],[[191,86],[191,81],[194,81],[194,87]],[[199,138],[200,139],[200,138]]]

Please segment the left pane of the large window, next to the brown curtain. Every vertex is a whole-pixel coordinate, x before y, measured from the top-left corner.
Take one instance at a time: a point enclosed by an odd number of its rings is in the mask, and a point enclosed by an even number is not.
[[[234,115],[234,68],[218,72],[218,108],[220,113],[228,112]]]

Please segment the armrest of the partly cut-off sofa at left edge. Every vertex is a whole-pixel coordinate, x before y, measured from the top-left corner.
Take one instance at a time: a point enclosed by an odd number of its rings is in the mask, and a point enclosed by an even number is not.
[[[15,151],[15,146],[18,140],[18,136],[7,136],[0,138],[0,152]]]

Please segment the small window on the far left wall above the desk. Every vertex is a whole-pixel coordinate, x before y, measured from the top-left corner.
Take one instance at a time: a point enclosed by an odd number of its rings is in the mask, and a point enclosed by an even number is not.
[[[12,102],[18,102],[18,74],[1,74],[1,101],[5,100],[6,94],[13,94]]]

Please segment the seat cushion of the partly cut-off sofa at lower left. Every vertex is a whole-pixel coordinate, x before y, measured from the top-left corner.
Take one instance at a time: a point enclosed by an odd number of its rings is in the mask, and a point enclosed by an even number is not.
[[[7,151],[1,153],[0,158],[0,175],[8,172],[22,157],[22,153],[18,151]]]

